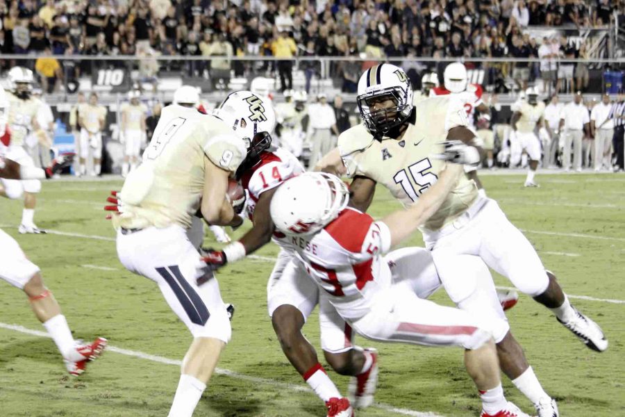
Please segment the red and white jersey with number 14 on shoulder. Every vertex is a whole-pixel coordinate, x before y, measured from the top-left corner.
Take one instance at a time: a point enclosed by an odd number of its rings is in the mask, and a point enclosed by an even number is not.
[[[250,220],[253,220],[254,208],[261,194],[302,172],[305,170],[301,162],[285,149],[274,148],[260,154],[260,162],[241,178],[243,188],[249,193],[247,213]]]

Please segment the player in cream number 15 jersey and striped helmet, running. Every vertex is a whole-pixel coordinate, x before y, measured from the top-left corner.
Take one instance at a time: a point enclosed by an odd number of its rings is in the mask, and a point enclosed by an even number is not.
[[[353,177],[352,204],[362,211],[371,204],[376,183],[383,184],[405,206],[417,202],[437,180],[441,163],[436,155],[442,152],[444,140],[450,152],[456,148],[462,161],[481,161],[481,149],[461,111],[462,102],[447,95],[413,107],[412,90],[403,71],[389,64],[381,67],[373,67],[360,79],[358,103],[365,123],[342,133],[338,152],[328,154],[323,167]],[[379,76],[372,74],[373,70],[379,71]],[[501,306],[478,285],[486,281],[492,285],[487,270],[487,280],[461,278],[467,257],[479,256],[520,291],[553,311],[587,347],[599,352],[608,347],[599,326],[574,309],[531,243],[509,222],[497,202],[478,195],[473,181],[461,179],[444,206],[424,224],[422,233],[442,285],[461,309],[505,318]],[[495,342],[503,372],[535,404],[539,415],[557,415],[555,402],[544,393],[512,334],[505,332]]]

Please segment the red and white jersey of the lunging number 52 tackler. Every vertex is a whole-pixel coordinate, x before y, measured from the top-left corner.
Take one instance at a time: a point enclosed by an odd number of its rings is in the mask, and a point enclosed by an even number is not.
[[[388,227],[353,208],[313,236],[281,235],[277,241],[303,263],[342,318],[364,316],[378,291],[392,284],[381,256],[390,248]]]

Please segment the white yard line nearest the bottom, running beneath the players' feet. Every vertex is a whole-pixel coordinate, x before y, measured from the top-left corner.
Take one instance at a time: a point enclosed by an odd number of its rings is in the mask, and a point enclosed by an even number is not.
[[[47,334],[46,332],[41,332],[40,330],[28,329],[20,325],[10,325],[8,323],[0,322],[0,327],[3,329],[7,329],[7,330],[13,330],[15,332],[30,334],[31,336],[39,336],[39,337],[47,337],[47,338],[50,337],[49,334]],[[153,355],[153,354],[149,354],[145,352],[139,352],[137,350],[128,350],[128,349],[124,349],[122,347],[117,347],[117,346],[109,345],[108,347],[106,347],[106,350],[108,350],[108,352],[124,354],[129,357],[135,357],[135,358],[144,359],[147,361],[152,361],[152,362],[157,362],[157,363],[164,363],[165,365],[175,365],[179,367],[182,364],[182,361],[178,359],[169,359],[166,357],[161,357],[161,356],[157,356],[157,355]],[[242,373],[235,372],[233,370],[228,370],[228,369],[223,369],[223,368],[215,368],[215,373],[217,373],[218,375],[226,375],[227,377],[232,377],[235,379],[241,379],[242,381],[251,382],[253,384],[265,384],[269,386],[276,386],[281,389],[289,389],[290,391],[297,391],[297,392],[304,392],[304,393],[312,392],[307,386],[287,384],[285,382],[279,382],[279,381],[276,381],[274,379],[269,379],[269,378],[253,377],[251,375],[245,375]],[[390,411],[394,414],[401,414],[402,416],[442,417],[440,416],[440,414],[416,411],[416,410],[411,410],[411,409],[401,409],[401,408],[394,407],[390,404],[374,403],[372,404],[371,407],[383,409],[385,411]]]

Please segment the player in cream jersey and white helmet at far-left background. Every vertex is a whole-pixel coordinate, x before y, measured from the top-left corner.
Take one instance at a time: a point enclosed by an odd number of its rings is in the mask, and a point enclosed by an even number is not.
[[[4,149],[7,158],[21,165],[35,166],[33,158],[28,155],[26,149],[26,137],[33,134],[39,138],[45,136],[37,121],[37,113],[41,101],[32,97],[33,72],[23,67],[13,67],[8,73],[12,92],[2,90],[3,108],[6,113],[6,126],[2,129],[2,135],[8,142]],[[38,179],[10,180],[2,179],[0,195],[10,199],[19,199],[24,195],[24,210],[22,222],[19,224],[19,233],[45,233],[34,222],[37,194],[41,191],[41,181]]]

